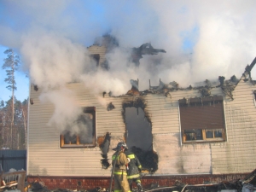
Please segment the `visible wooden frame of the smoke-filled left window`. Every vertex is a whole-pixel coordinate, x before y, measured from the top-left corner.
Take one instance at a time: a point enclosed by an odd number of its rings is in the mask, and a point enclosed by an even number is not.
[[[94,148],[96,147],[96,107],[85,107],[83,113],[91,113],[93,115],[92,127],[92,143],[80,144],[79,135],[76,135],[76,143],[64,143],[65,134],[60,134],[60,148]]]

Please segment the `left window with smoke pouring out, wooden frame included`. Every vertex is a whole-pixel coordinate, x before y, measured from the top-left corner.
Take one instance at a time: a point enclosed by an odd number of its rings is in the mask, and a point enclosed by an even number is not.
[[[84,108],[79,118],[61,134],[61,148],[96,146],[96,108]]]

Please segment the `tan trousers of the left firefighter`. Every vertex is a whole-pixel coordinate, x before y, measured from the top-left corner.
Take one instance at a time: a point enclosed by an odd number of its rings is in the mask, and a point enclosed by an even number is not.
[[[127,180],[127,173],[124,171],[121,174],[114,174],[113,192],[131,192]]]

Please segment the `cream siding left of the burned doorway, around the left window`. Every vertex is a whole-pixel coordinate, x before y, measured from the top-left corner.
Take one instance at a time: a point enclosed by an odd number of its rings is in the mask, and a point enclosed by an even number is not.
[[[120,98],[117,98],[115,110],[107,111],[107,103],[113,102],[113,98],[105,98],[106,106],[97,102],[94,95],[84,90],[84,84],[67,84],[67,89],[75,93],[77,102],[81,107],[96,107],[96,137],[104,136],[111,131],[114,137],[123,137],[125,125],[121,116]],[[48,124],[54,113],[54,106],[49,102],[39,100],[38,91],[31,89],[30,97],[33,105],[30,105],[29,140],[28,140],[28,175],[42,176],[109,176],[110,169],[102,169],[102,151],[95,148],[60,148],[60,131]],[[102,96],[102,94],[101,94]],[[115,102],[113,102],[115,103]],[[63,103],[65,104],[65,103]],[[117,113],[119,111],[119,113]],[[112,119],[113,118],[113,119]],[[112,119],[112,120],[111,120]],[[108,121],[108,123],[104,123]],[[112,150],[109,150],[111,157]]]

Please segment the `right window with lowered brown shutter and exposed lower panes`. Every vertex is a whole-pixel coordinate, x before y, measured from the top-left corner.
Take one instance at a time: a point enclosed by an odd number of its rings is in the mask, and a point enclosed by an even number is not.
[[[222,96],[181,99],[178,102],[183,143],[225,141]]]

